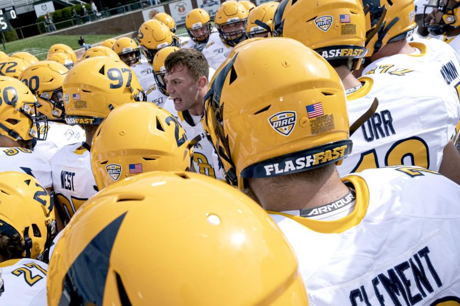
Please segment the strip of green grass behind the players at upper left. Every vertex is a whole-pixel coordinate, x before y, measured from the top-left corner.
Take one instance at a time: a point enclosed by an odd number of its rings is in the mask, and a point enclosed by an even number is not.
[[[114,35],[84,35],[83,37],[87,44],[93,44],[113,36]],[[55,43],[63,43],[72,47],[73,49],[79,49],[80,45],[78,44],[78,39],[79,36],[77,35],[35,36],[7,42],[5,44],[6,50],[4,50],[0,44],[0,50],[8,54],[13,52],[26,51],[35,55],[39,60],[44,60],[47,57],[48,49]]]

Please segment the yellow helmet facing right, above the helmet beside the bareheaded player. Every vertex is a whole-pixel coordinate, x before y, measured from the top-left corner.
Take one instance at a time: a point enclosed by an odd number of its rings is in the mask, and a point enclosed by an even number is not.
[[[167,46],[179,46],[179,39],[172,34],[169,28],[156,19],[142,23],[137,39],[141,43],[141,49],[150,64],[159,49]]]

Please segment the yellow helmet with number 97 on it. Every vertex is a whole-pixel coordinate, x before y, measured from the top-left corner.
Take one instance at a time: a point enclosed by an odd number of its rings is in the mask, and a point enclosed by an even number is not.
[[[72,68],[62,85],[65,121],[70,125],[97,125],[119,105],[145,101],[136,75],[121,60],[101,56]]]

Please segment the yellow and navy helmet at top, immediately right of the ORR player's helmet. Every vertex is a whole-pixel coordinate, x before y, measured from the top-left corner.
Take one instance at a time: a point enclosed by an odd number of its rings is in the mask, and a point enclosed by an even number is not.
[[[369,7],[371,29],[367,30],[366,57],[377,53],[387,43],[399,41],[417,31],[413,0],[362,0]]]

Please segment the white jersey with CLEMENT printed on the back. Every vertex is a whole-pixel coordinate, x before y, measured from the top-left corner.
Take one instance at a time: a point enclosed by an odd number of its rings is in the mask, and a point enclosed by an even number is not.
[[[310,305],[458,303],[460,186],[406,166],[342,181],[356,191],[347,217],[269,212],[296,253]]]

